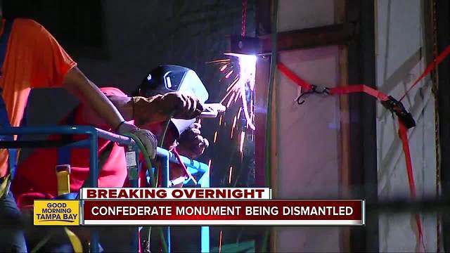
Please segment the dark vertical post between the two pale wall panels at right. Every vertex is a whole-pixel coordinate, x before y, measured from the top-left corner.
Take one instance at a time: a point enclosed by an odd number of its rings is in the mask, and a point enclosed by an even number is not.
[[[375,86],[375,1],[347,0],[346,20],[357,30],[348,45],[348,82]],[[349,183],[351,197],[378,202],[376,104],[362,94],[349,97]],[[362,188],[357,188],[361,187]],[[350,228],[350,251],[378,252],[378,214],[366,210],[366,226]]]

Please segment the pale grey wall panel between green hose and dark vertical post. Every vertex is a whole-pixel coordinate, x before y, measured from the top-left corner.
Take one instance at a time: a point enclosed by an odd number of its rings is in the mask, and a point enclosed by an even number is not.
[[[334,22],[333,0],[279,1],[278,30],[288,31]],[[313,84],[338,82],[338,48],[283,52],[279,60]],[[339,103],[336,97],[309,96],[297,105],[297,85],[278,72],[278,190],[282,198],[338,197]],[[277,252],[337,252],[339,228],[278,227]]]

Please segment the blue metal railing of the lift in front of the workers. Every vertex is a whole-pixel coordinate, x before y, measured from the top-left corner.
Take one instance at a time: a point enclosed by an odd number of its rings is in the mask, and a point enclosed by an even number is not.
[[[82,134],[88,137],[82,141],[75,141],[72,143],[56,143],[55,145],[64,145],[70,148],[89,148],[89,186],[98,187],[98,138],[103,138],[108,141],[114,141],[120,145],[128,146],[131,150],[137,151],[137,145],[131,138],[126,136],[120,136],[113,134],[102,129],[96,129],[93,126],[23,126],[23,127],[1,127],[1,135],[34,135],[34,134],[57,134],[57,135],[75,135]],[[33,143],[40,144],[39,147],[45,148],[49,145],[49,141],[0,141],[0,148],[27,148],[27,145]],[[136,152],[136,157],[138,152]],[[163,148],[157,149],[157,156],[162,159],[162,187],[167,188],[170,183],[170,162],[178,164],[178,160],[173,153]],[[202,187],[210,187],[210,173],[207,164],[191,160],[188,157],[181,157],[181,161],[186,165],[188,171],[191,174],[203,173],[203,176],[198,181]],[[132,180],[132,187],[137,186],[137,180]],[[136,229],[137,231],[137,229]],[[170,227],[163,229],[167,249],[170,252]],[[137,235],[136,235],[137,239]],[[98,233],[94,231],[91,233],[90,249],[91,252],[98,252]],[[137,245],[138,240],[134,242],[134,247]],[[201,252],[210,252],[210,228],[208,226],[201,227]]]

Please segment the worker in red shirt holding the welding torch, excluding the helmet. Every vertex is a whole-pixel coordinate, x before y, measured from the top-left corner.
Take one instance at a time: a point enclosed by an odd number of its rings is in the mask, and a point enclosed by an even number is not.
[[[203,84],[202,84],[203,85]],[[200,124],[192,123],[192,120],[203,111],[202,102],[194,96],[186,95],[186,92],[158,91],[150,97],[146,95],[148,89],[148,75],[141,84],[138,96],[129,97],[120,89],[101,88],[101,91],[107,96],[117,109],[122,113],[124,119],[129,123],[136,122],[136,126],[142,129],[151,129],[153,133],[160,136],[162,125],[167,122],[169,115],[173,114],[178,122],[190,124],[184,129],[176,127],[172,121],[169,124],[169,131],[165,136],[165,148],[173,148],[177,145],[180,155],[186,155],[196,158],[203,153],[209,143],[200,135]],[[163,94],[161,94],[163,93]],[[103,120],[96,117],[94,112],[84,104],[79,105],[70,115],[63,119],[60,124],[91,124],[101,129],[109,129]],[[180,124],[178,124],[180,126]],[[181,134],[180,134],[181,132]],[[60,136],[51,136],[51,139],[61,138]],[[83,136],[75,136],[74,140],[79,140]],[[178,138],[178,141],[175,140]],[[64,155],[64,149],[39,149],[30,157],[22,162],[17,169],[17,178],[13,181],[13,193],[15,194],[18,205],[27,217],[31,218],[34,200],[51,199],[58,195],[58,183],[55,173],[56,165],[60,164],[60,157]],[[67,151],[67,150],[66,150]],[[127,164],[124,155],[124,148],[117,143],[112,143],[103,139],[98,139],[98,157],[99,170],[98,187],[127,187]],[[102,158],[103,157],[103,158]],[[79,188],[86,186],[84,181],[89,176],[89,150],[72,149],[68,154],[68,164],[70,164],[70,192],[78,193]],[[143,169],[142,171],[146,171]],[[184,170],[179,166],[171,166],[172,179],[184,175]],[[146,179],[146,176],[143,176]],[[145,181],[141,181],[145,183]],[[31,219],[32,220],[32,219]],[[60,228],[55,228],[56,230]],[[100,228],[101,246],[106,251],[129,251],[130,237],[132,234],[126,227],[111,229]],[[73,229],[72,229],[73,230]],[[77,235],[82,241],[88,241],[86,231],[75,229]],[[117,231],[122,231],[117,236]],[[45,228],[34,227],[27,229],[27,245],[34,247],[41,242],[41,235],[49,232]],[[57,234],[57,235],[55,235]],[[113,237],[113,239],[111,239]],[[44,251],[63,250],[68,244],[68,238],[64,233],[53,233],[51,239],[44,245]]]

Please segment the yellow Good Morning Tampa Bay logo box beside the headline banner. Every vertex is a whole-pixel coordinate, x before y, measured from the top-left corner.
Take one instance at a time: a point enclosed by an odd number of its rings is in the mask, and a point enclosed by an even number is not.
[[[34,200],[34,225],[78,226],[79,200]]]

